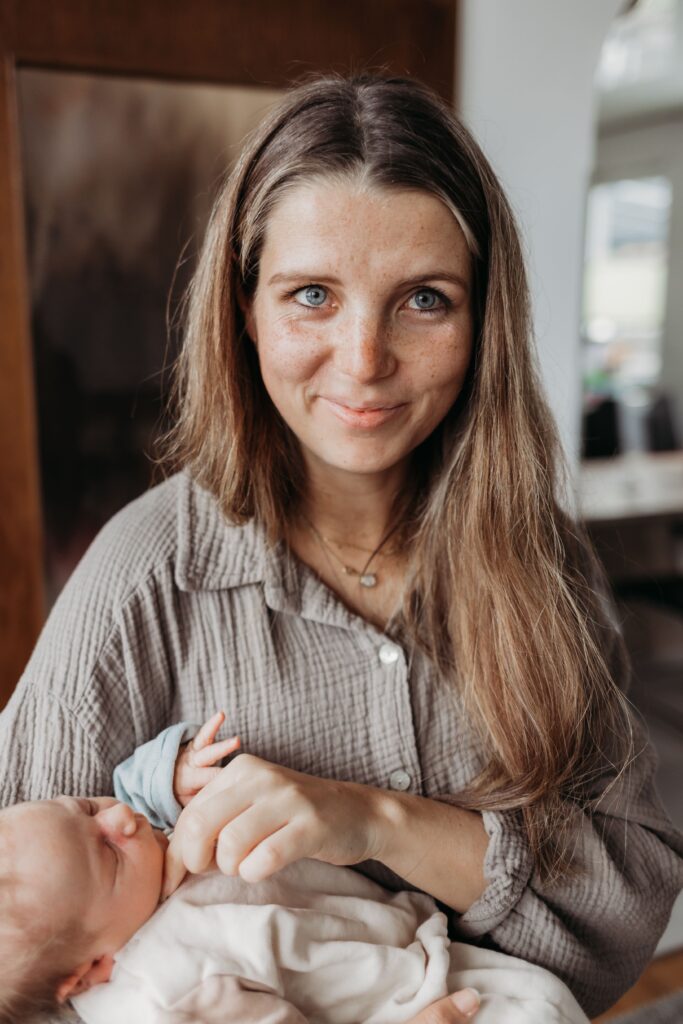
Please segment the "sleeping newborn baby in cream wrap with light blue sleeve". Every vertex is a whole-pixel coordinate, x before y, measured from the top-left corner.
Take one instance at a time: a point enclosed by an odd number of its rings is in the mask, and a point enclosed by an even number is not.
[[[449,942],[430,897],[349,868],[302,860],[251,885],[207,871],[158,907],[167,840],[150,818],[171,825],[238,748],[215,742],[222,721],[138,749],[115,773],[128,803],[0,812],[0,1022],[72,999],[87,1024],[398,1024],[471,986],[477,1024],[586,1024],[552,975]]]

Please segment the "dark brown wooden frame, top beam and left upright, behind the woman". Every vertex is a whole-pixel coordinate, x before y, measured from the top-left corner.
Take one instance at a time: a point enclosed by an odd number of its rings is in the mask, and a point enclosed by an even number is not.
[[[16,69],[284,87],[386,68],[453,99],[456,0],[0,0],[0,708],[44,615]]]

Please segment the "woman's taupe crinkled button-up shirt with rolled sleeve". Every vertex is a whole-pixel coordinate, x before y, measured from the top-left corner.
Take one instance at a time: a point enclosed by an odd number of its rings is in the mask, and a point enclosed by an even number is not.
[[[483,763],[421,654],[267,548],[253,523],[227,524],[180,474],[115,516],[60,594],[0,716],[0,804],[111,793],[136,746],[217,709],[252,754],[323,777],[387,787],[400,770],[410,793],[454,802]],[[645,748],[607,797],[596,782],[594,809],[575,814],[584,869],[552,888],[518,816],[484,813],[489,884],[465,915],[449,913],[453,937],[548,968],[589,1015],[614,1001],[681,887],[683,842],[653,770]],[[452,856],[457,871],[455,845]],[[410,888],[382,865],[364,869]]]

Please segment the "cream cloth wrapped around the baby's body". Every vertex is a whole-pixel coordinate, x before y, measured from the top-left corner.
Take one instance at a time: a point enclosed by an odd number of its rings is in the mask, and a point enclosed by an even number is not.
[[[86,1024],[398,1024],[468,985],[476,1024],[587,1024],[547,971],[450,942],[429,896],[300,860],[186,879],[74,1006]]]

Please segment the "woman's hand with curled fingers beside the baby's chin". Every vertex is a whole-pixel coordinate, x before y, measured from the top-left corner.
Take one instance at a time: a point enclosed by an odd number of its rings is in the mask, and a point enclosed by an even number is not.
[[[380,849],[381,791],[243,754],[185,807],[166,853],[164,896],[213,862],[258,882],[302,857],[356,864]]]

